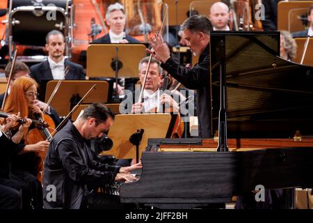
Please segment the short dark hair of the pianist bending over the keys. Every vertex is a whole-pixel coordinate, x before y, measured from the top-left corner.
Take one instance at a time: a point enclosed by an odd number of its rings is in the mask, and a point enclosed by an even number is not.
[[[104,123],[108,118],[112,118],[114,120],[115,114],[111,111],[109,107],[106,107],[102,103],[93,103],[89,105],[83,111],[83,120],[87,120],[88,118],[96,119],[96,126],[100,123]]]

